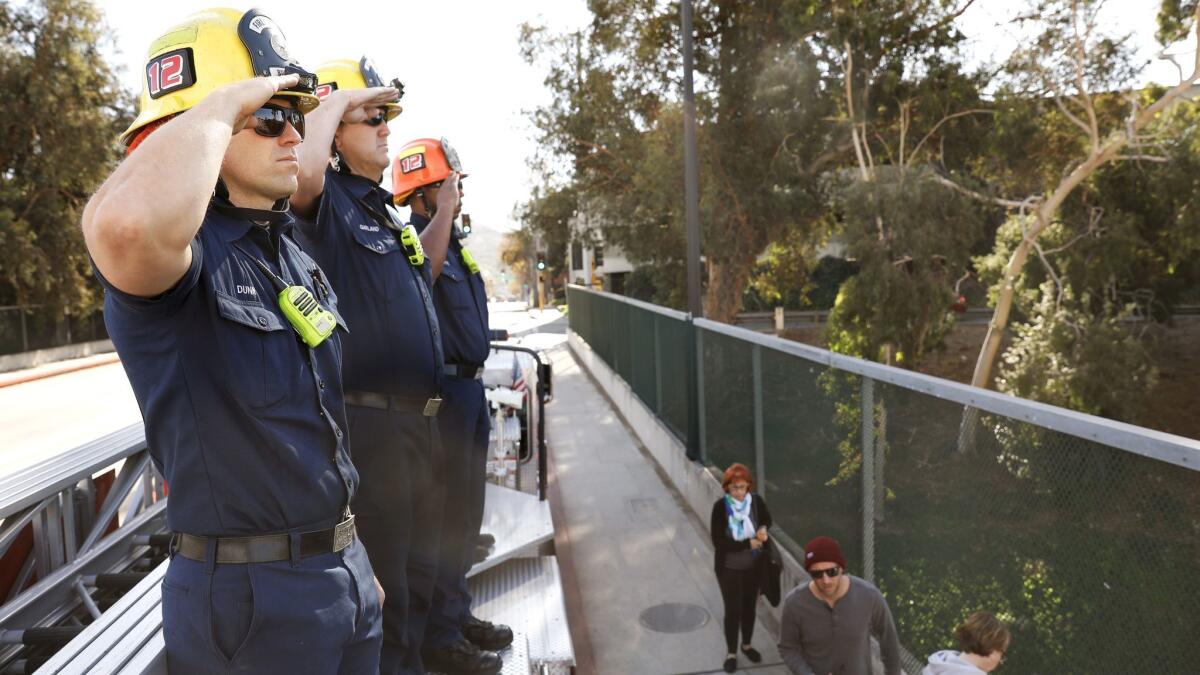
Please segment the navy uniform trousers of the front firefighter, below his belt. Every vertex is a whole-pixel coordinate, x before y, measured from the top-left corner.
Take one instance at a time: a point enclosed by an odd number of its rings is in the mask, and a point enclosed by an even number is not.
[[[383,635],[358,539],[338,552],[252,565],[175,555],[162,581],[162,627],[172,675],[367,675]]]

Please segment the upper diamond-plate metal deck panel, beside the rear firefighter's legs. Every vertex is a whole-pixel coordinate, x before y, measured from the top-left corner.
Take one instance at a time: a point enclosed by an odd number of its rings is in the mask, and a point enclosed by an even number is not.
[[[480,531],[496,537],[496,546],[487,560],[470,568],[468,578],[514,557],[538,555],[538,546],[553,540],[554,521],[550,516],[550,502],[488,483]]]

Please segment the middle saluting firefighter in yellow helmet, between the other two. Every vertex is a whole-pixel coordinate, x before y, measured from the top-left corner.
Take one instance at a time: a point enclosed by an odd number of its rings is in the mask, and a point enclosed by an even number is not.
[[[431,655],[436,663],[421,661],[445,498],[437,422],[445,359],[431,261],[379,186],[401,85],[385,85],[366,58],[330,61],[317,73],[325,97],[308,119],[292,207],[298,239],[329,270],[354,327],[346,340],[346,404],[364,476],[358,527],[386,591],[380,673],[496,673],[499,656],[468,643]],[[449,227],[457,177],[440,198]]]

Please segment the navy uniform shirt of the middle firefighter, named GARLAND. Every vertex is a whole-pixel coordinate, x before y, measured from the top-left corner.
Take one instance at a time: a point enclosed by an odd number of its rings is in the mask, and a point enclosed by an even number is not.
[[[391,193],[358,175],[325,172],[317,221],[299,219],[296,239],[337,288],[354,327],[346,339],[348,392],[428,399],[440,392],[442,334],[430,294],[430,263],[408,262],[392,231]]]

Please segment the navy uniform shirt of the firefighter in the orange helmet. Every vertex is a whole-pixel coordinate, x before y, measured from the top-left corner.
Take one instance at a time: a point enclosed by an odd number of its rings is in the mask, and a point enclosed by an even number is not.
[[[424,232],[430,219],[413,214],[409,219]],[[450,237],[446,262],[433,285],[433,306],[442,324],[442,345],[446,363],[484,365],[491,351],[487,327],[487,289],[479,273],[472,274],[462,262],[462,243]]]

